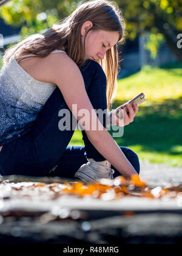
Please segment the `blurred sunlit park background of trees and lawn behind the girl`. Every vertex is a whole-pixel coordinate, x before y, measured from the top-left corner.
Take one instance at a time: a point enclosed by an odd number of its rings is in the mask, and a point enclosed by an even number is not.
[[[43,32],[68,16],[78,2],[8,1],[0,8],[0,66],[4,49],[27,35]],[[133,149],[141,160],[182,166],[182,0],[116,2],[126,19],[127,38],[119,49],[113,108],[139,93],[145,94],[146,102],[133,123],[124,128],[123,137],[114,139]],[[84,146],[80,130],[70,144]]]

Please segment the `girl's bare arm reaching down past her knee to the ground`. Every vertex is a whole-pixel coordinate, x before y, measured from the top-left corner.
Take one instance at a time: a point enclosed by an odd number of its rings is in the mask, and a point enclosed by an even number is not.
[[[61,58],[60,56],[55,57],[54,62],[50,63],[50,65],[52,65],[52,80],[61,90],[69,109],[72,111],[72,104],[77,105],[78,112],[83,108],[87,109],[90,113],[89,127],[92,127],[92,120],[96,120],[96,127],[103,127],[95,111],[93,111],[93,106],[84,85],[83,76],[75,62],[66,54],[62,54]],[[82,118],[82,116],[77,116],[77,113],[73,113],[73,115],[78,121]],[[137,174],[107,129],[103,127],[102,130],[92,130],[89,127],[85,129],[87,137],[104,158],[125,177]]]

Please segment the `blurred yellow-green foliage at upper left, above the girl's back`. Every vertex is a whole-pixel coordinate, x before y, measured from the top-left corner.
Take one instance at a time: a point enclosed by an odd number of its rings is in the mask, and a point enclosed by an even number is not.
[[[24,37],[51,27],[68,16],[77,4],[73,0],[12,0],[1,7],[0,16],[11,26],[21,26]]]

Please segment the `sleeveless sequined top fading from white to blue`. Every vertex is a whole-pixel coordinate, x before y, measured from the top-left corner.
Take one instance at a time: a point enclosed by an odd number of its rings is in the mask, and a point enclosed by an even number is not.
[[[55,50],[51,53],[64,52]],[[29,54],[17,58],[29,59]],[[29,132],[55,84],[34,79],[13,55],[0,71],[0,146]]]

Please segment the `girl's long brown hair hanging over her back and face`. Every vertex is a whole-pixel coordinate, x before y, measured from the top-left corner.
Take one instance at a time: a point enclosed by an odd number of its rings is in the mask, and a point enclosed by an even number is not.
[[[85,62],[85,45],[81,43],[81,27],[86,21],[91,21],[93,24],[89,31],[99,29],[116,31],[120,34],[117,44],[123,43],[125,23],[118,5],[110,0],[81,1],[71,15],[53,24],[49,30],[42,34],[30,35],[7,49],[3,59],[4,63],[8,62],[12,55],[19,57],[31,53],[38,57],[46,57],[53,50],[64,48],[67,55],[79,67],[82,66]],[[117,88],[118,50],[116,44],[107,50],[103,60],[97,60],[97,62],[102,66],[107,77],[107,108],[109,109]]]

